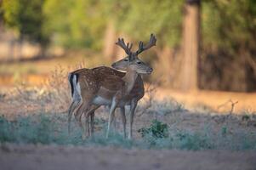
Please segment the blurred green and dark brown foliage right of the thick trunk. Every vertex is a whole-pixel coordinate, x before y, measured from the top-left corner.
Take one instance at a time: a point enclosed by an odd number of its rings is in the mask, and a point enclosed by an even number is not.
[[[256,1],[202,3],[201,88],[256,90]]]

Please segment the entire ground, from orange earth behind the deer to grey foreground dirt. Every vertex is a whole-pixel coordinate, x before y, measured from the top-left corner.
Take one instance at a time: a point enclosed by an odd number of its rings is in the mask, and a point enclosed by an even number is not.
[[[0,84],[7,85],[0,89],[1,169],[256,169],[256,94],[184,93],[158,87],[151,104],[150,94],[139,103],[134,140],[119,135],[105,142],[100,130],[108,114],[102,108],[96,113],[95,139],[82,142],[75,121],[73,136],[67,135],[71,99],[66,72],[57,67],[52,74],[56,83],[40,86],[48,79],[48,66],[53,69],[57,62],[66,66],[72,59],[0,66]],[[23,80],[23,73],[37,75],[28,77],[37,87],[10,89],[15,77]],[[141,137],[138,130],[155,119],[167,124],[167,139]],[[117,114],[117,132],[121,131]]]

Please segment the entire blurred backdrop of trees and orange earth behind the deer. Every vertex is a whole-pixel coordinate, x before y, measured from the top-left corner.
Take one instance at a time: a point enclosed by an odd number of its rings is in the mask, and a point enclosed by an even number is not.
[[[163,97],[237,99],[244,107],[256,100],[255,0],[0,2],[2,89],[43,83],[56,65],[111,65],[125,56],[117,37],[137,50],[154,33],[156,47],[140,57],[154,68],[145,80],[157,82]]]

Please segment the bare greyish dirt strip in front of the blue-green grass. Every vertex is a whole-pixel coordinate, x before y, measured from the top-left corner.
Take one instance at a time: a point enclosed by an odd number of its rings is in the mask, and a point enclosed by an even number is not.
[[[2,145],[1,169],[225,169],[256,168],[255,152],[122,150]]]

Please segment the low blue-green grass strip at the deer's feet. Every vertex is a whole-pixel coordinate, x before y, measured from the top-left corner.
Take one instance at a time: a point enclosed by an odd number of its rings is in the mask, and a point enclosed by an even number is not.
[[[84,146],[114,146],[139,149],[179,149],[179,150],[255,150],[256,133],[237,130],[229,133],[228,127],[223,127],[219,133],[213,133],[206,126],[200,131],[190,132],[171,129],[164,123],[153,121],[149,127],[144,127],[145,133],[141,139],[123,139],[122,134],[111,133],[105,139],[106,123],[98,121],[102,127],[94,137],[82,141],[81,130],[77,123],[72,123],[72,131],[67,133],[66,116],[63,114],[37,114],[20,116],[9,121],[0,116],[0,142],[15,144],[74,144]],[[168,133],[166,132],[168,130]]]

